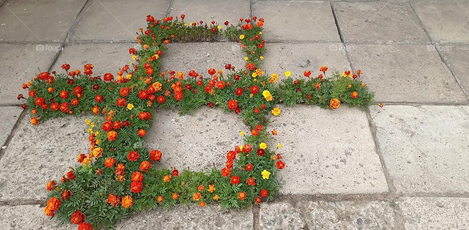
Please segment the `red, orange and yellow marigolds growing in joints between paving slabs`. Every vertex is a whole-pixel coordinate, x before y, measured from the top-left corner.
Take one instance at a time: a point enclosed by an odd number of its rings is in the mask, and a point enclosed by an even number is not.
[[[186,23],[184,18],[157,20],[149,15],[148,27],[140,29],[137,37],[142,48],[129,49],[133,61],[115,76],[93,75],[92,64],[86,64],[83,73],[64,64],[66,74],[43,72],[23,84],[29,95],[23,108],[30,109],[34,125],[63,115],[101,115],[85,120],[90,149],[77,156],[80,165],[47,183],[47,216],[91,230],[112,228],[133,211],[159,205],[169,208],[194,202],[205,207],[218,202],[228,209],[272,200],[280,187],[276,174],[285,167],[278,153],[281,145],[269,144],[269,136],[277,131],[266,127],[267,115],[281,113],[276,103],[317,103],[337,109],[341,102],[362,108],[373,102],[373,94],[358,80],[360,72],[326,77],[327,67],[321,67],[317,78],[308,71],[306,79],[293,81],[287,71],[283,83],[276,86],[279,76],[267,76],[259,67],[265,52],[263,19],[240,19],[236,25],[225,22],[223,30],[214,21]],[[215,40],[222,34],[241,43],[244,66],[226,64],[220,70],[192,70],[187,75],[159,72],[170,42]],[[179,107],[181,114],[191,114],[202,105],[241,115],[250,131],[240,132],[245,143],[226,153],[222,169],[156,170],[154,164],[163,153],[144,148],[154,109]]]

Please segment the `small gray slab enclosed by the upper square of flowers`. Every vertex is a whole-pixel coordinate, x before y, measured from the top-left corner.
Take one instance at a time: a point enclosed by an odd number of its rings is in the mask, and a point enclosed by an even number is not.
[[[171,43],[163,53],[161,70],[181,71],[188,74],[195,70],[205,77],[210,77],[208,69],[225,69],[230,63],[236,69],[244,69],[244,53],[240,43],[236,42],[202,42],[202,43]]]

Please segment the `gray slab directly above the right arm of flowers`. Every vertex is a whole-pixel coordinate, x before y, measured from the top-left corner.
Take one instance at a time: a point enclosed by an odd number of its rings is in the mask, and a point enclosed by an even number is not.
[[[350,70],[350,63],[345,56],[342,43],[267,43],[262,69],[268,75],[277,73],[284,79],[283,73],[290,71],[293,78],[305,78],[304,71],[311,71],[312,77],[318,77],[319,68],[329,66],[330,72]],[[329,74],[330,74],[329,72]]]

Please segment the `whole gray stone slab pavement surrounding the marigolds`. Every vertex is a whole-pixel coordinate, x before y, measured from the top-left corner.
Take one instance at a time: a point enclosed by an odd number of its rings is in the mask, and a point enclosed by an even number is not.
[[[282,195],[250,210],[175,207],[133,216],[117,229],[469,229],[469,2],[461,0],[0,0],[0,226],[57,230],[43,214],[45,184],[86,152],[87,116],[33,127],[16,96],[40,71],[93,63],[115,73],[145,16],[266,19],[268,73],[321,65],[363,71],[384,108],[280,105],[287,167]],[[233,42],[171,44],[163,70],[240,67]],[[39,69],[38,69],[39,68]],[[162,130],[163,136],[152,130]],[[147,143],[158,167],[219,164],[246,131],[241,118],[199,109],[157,112]],[[190,131],[186,135],[185,131]],[[180,143],[170,146],[166,140]],[[201,144],[203,141],[204,144]],[[192,161],[186,147],[200,160]]]

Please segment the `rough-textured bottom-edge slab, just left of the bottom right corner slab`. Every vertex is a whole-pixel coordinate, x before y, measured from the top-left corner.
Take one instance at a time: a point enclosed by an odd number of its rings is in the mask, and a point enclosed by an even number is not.
[[[259,212],[262,230],[341,229],[393,230],[394,211],[384,201],[298,201],[263,203]]]

